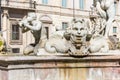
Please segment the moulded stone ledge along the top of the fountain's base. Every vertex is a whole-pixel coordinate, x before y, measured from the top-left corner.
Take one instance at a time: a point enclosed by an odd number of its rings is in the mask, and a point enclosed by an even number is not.
[[[63,65],[63,63],[66,64],[66,66]],[[46,66],[44,64],[49,64],[50,66]],[[120,55],[95,54],[86,57],[71,57],[69,55],[0,56],[0,69],[5,70],[28,69],[28,68],[37,69],[37,68],[80,68],[80,67],[81,68],[120,67]]]

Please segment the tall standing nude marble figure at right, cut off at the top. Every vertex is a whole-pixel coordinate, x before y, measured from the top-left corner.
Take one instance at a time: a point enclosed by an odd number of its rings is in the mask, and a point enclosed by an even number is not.
[[[100,17],[106,20],[104,36],[108,38],[109,30],[115,17],[114,0],[94,0],[94,5]]]

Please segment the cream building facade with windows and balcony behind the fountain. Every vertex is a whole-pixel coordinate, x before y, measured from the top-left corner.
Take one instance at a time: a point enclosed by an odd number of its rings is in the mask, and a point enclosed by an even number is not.
[[[76,18],[89,19],[93,0],[1,0],[1,31],[7,47],[13,53],[22,53],[23,48],[34,42],[30,32],[22,33],[18,21],[28,12],[36,12],[47,35],[56,28],[65,29]],[[120,38],[120,2],[116,2],[116,17],[110,35]]]

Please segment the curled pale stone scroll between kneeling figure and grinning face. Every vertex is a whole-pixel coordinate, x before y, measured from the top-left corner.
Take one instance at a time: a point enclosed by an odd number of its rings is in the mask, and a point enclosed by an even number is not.
[[[69,42],[60,35],[50,37],[44,46],[45,50],[49,53],[67,53],[69,47]]]

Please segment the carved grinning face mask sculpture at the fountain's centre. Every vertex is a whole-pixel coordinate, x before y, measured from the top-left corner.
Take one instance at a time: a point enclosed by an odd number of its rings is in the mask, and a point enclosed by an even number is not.
[[[86,54],[87,47],[86,37],[88,29],[86,27],[84,19],[76,19],[72,28],[64,33],[64,37],[70,42],[71,47],[69,49],[70,55]]]

